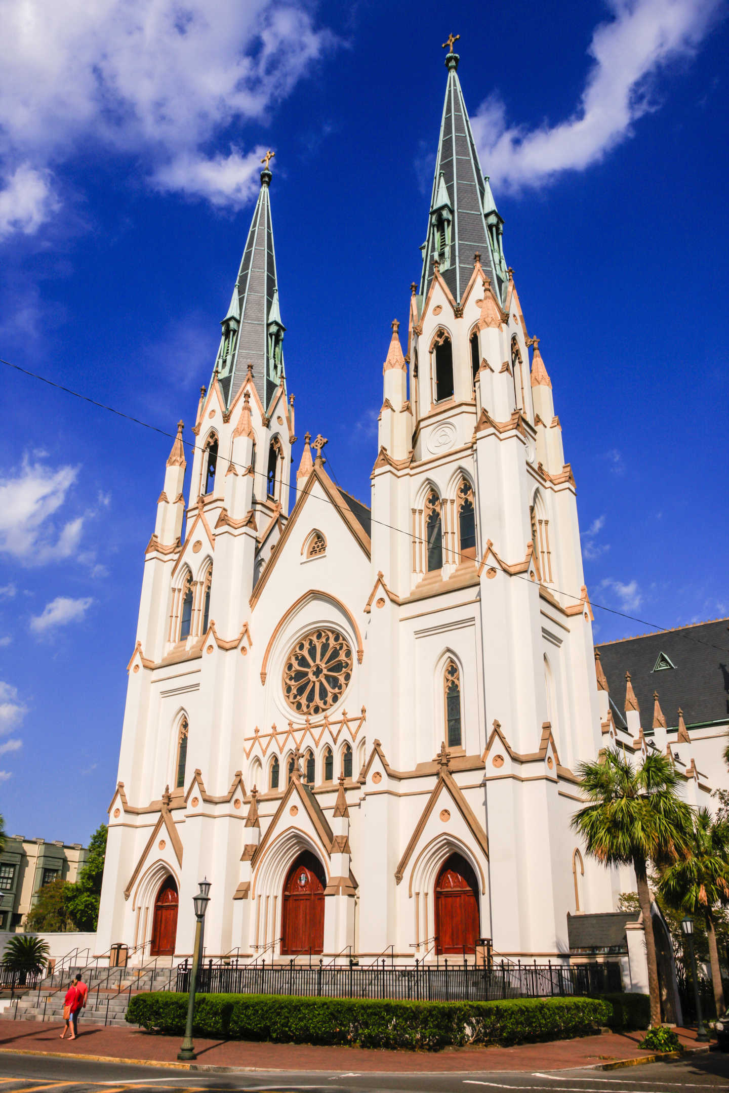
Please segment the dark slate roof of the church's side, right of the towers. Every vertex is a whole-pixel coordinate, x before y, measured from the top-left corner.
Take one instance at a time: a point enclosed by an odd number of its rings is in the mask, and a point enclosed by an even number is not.
[[[729,718],[729,619],[607,642],[597,648],[610,697],[621,713],[625,672],[631,673],[644,729],[652,726],[654,691],[670,728],[679,724],[679,706],[687,727]],[[661,653],[674,667],[654,671]]]

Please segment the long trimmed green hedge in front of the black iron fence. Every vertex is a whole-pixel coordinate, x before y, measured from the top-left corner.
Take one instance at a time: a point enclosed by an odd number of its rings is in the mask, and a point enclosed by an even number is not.
[[[613,996],[623,999],[625,996]],[[150,1032],[181,1036],[187,995],[140,994],[127,1021]],[[616,1018],[616,1012],[620,1015]],[[518,1044],[586,1036],[619,1020],[627,1027],[630,1003],[620,1010],[602,998],[519,998],[499,1002],[396,1002],[279,995],[199,995],[195,1035],[294,1044],[436,1049],[465,1044]]]

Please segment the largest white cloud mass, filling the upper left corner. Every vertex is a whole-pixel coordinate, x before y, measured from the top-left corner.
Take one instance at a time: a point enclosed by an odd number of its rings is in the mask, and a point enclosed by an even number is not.
[[[35,176],[9,223],[37,227],[48,168],[93,146],[138,157],[154,188],[239,207],[261,150],[214,155],[211,142],[266,121],[334,42],[306,0],[7,0],[1,152],[7,173]]]

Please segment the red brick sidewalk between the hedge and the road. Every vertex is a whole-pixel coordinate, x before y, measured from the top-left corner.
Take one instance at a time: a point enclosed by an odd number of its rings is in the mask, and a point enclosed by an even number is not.
[[[62,1023],[1,1021],[0,1051],[114,1059],[153,1066],[177,1063],[179,1036],[155,1036],[136,1029],[80,1023],[74,1041],[59,1039]],[[696,1048],[696,1033],[678,1029],[682,1044]],[[484,1070],[565,1070],[596,1067],[618,1060],[654,1058],[637,1046],[645,1033],[603,1033],[549,1044],[517,1047],[460,1047],[443,1051],[387,1051],[358,1047],[319,1047],[310,1044],[269,1044],[246,1041],[195,1041],[196,1067],[242,1070],[302,1070],[381,1073],[447,1073]],[[701,1047],[701,1045],[699,1045]],[[177,1063],[187,1069],[187,1065]],[[0,1070],[2,1070],[0,1055]]]

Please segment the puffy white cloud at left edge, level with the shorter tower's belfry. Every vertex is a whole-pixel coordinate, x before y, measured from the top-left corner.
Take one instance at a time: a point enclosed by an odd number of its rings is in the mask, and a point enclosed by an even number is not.
[[[75,482],[77,467],[51,470],[27,457],[19,470],[0,474],[0,553],[24,565],[69,557],[81,540],[83,517],[59,528],[55,514]]]

